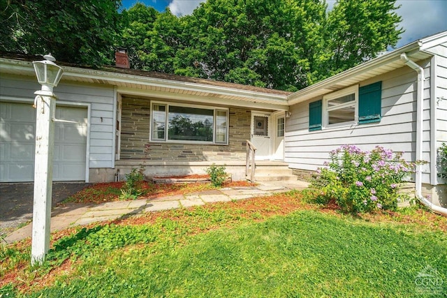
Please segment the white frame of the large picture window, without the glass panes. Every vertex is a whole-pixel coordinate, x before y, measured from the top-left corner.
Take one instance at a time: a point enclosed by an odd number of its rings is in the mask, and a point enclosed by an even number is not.
[[[164,105],[166,107],[165,109],[165,138],[162,139],[154,139],[152,138],[152,120],[154,119],[154,105]],[[205,109],[205,110],[212,110],[213,111],[213,132],[212,132],[212,141],[193,141],[193,140],[169,140],[169,134],[168,134],[168,119],[169,119],[169,107],[175,106],[175,107],[193,107],[198,109]],[[228,137],[229,137],[229,127],[230,127],[230,109],[228,107],[214,107],[210,105],[191,105],[188,103],[170,103],[166,101],[158,101],[158,100],[152,100],[151,101],[151,110],[149,115],[149,142],[154,143],[170,143],[170,144],[215,144],[215,145],[228,145]],[[226,142],[217,142],[216,140],[216,132],[217,132],[217,111],[226,112]]]

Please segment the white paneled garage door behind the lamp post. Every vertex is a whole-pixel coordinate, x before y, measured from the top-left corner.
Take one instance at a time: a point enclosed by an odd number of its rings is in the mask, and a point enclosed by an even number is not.
[[[85,181],[87,108],[56,107],[54,181]],[[29,103],[0,103],[0,181],[34,180],[36,110]]]

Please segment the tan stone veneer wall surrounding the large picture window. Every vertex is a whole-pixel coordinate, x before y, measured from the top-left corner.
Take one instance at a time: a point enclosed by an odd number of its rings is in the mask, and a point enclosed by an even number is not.
[[[251,111],[230,107],[228,145],[149,142],[150,100],[122,98],[121,160],[244,161]]]

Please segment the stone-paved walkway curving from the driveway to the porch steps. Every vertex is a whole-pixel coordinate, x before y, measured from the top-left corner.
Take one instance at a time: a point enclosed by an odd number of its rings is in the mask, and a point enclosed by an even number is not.
[[[188,195],[154,198],[149,200],[105,202],[103,204],[65,204],[54,207],[51,214],[51,231],[64,230],[75,225],[88,225],[98,221],[109,221],[124,216],[134,216],[150,211],[161,211],[181,207],[203,205],[211,202],[243,200],[273,193],[304,189],[307,182],[274,181],[259,182],[257,186],[221,188]],[[31,237],[32,223],[8,234],[2,243],[12,243]]]

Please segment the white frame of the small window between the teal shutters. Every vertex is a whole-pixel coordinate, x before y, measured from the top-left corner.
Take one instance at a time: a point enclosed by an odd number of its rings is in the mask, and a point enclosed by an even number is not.
[[[343,96],[347,96],[349,94],[354,94],[354,102],[349,102],[349,103],[343,103],[340,105],[337,105],[337,107],[331,107],[328,108],[328,102],[330,100],[336,99],[336,98],[340,98]],[[337,124],[329,124],[329,112],[332,110],[338,110],[339,108],[342,107],[348,107],[354,105],[354,120],[353,121],[346,121],[346,122],[342,122],[342,123],[337,123]],[[333,92],[331,94],[327,94],[325,96],[323,96],[323,119],[322,120],[322,126],[323,129],[325,128],[337,128],[337,127],[342,127],[342,126],[353,126],[358,124],[358,85],[355,86],[351,86],[336,92]]]

